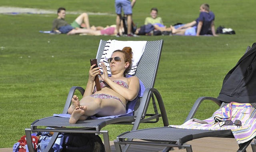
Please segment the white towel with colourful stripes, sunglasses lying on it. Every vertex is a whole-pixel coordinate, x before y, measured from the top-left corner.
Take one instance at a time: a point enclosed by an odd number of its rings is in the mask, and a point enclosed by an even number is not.
[[[240,120],[242,126],[224,125],[225,120]],[[216,110],[212,117],[205,120],[192,118],[182,125],[170,125],[172,128],[196,130],[227,130],[230,129],[238,144],[247,142],[256,136],[256,109],[251,104],[231,102]]]

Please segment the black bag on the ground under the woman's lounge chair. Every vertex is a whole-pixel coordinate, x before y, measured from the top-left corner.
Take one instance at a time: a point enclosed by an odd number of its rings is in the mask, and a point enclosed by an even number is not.
[[[62,152],[105,152],[101,138],[95,134],[64,134]]]

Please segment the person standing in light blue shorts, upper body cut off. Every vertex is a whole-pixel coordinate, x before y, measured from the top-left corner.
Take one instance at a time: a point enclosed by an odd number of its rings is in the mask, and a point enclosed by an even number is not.
[[[132,35],[132,8],[135,4],[136,0],[115,0],[115,8],[116,8],[116,30],[119,31],[120,24],[121,24],[121,17],[122,17],[122,10],[124,11],[124,15],[127,16],[127,36]],[[116,34],[117,37],[120,36],[118,32]]]

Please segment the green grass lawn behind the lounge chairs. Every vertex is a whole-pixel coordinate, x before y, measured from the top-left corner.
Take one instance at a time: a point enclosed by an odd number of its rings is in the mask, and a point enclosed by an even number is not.
[[[9,0],[0,6],[68,11],[101,12],[90,15],[90,24],[115,24],[114,0]],[[56,14],[0,14],[0,148],[12,147],[25,134],[24,128],[39,118],[61,113],[72,86],[86,86],[89,59],[96,56],[100,39],[164,40],[155,88],[159,90],[170,124],[182,124],[200,96],[217,97],[226,73],[235,66],[248,45],[255,42],[255,1],[240,0],[137,0],[133,20],[144,23],[152,7],[169,26],[198,17],[200,4],[207,2],[216,15],[215,25],[235,30],[235,35],[115,36],[49,35]],[[68,14],[72,22],[77,15]],[[210,107],[206,109],[206,107]],[[217,106],[202,104],[196,118],[211,116]],[[140,128],[162,126],[141,124]],[[130,130],[128,125],[110,125],[110,140]]]

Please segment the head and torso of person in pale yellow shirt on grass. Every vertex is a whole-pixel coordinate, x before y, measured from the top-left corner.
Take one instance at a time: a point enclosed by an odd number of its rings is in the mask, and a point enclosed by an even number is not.
[[[147,25],[147,24],[156,24],[160,27],[164,27],[164,23],[162,21],[162,18],[161,17],[158,17],[158,9],[157,8],[151,8],[150,10],[150,16],[151,17],[147,17],[145,19],[145,22],[144,22],[144,25]]]

